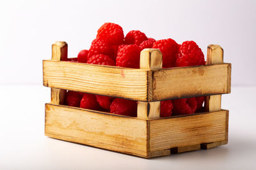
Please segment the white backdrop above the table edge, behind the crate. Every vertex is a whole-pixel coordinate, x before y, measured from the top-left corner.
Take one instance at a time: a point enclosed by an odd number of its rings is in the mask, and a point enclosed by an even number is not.
[[[104,22],[125,34],[194,40],[224,49],[232,85],[256,85],[256,1],[0,1],[0,84],[42,85],[51,44],[67,41],[69,57],[88,49]]]

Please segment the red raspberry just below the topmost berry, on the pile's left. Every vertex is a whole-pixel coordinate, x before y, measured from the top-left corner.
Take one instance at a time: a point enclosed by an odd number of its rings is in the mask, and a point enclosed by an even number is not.
[[[105,55],[108,55],[109,57],[113,57],[114,55],[113,49],[111,48],[111,46],[108,45],[106,41],[100,38],[96,38],[92,41],[92,45],[89,49],[87,60],[89,60],[90,57],[96,54],[105,54]]]

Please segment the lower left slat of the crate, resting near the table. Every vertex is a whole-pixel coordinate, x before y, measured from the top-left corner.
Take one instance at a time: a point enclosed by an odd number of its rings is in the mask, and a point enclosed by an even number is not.
[[[45,104],[45,135],[141,157],[154,155],[147,152],[147,120],[138,118]]]

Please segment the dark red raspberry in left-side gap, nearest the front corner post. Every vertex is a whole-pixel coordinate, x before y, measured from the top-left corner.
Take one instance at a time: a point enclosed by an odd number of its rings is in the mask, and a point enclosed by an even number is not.
[[[129,117],[136,117],[137,102],[115,98],[110,105],[110,113],[115,113],[117,115],[125,115]]]

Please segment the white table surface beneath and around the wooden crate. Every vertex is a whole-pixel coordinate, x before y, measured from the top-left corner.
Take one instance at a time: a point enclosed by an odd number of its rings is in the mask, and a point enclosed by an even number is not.
[[[142,159],[44,136],[42,85],[0,86],[0,169],[256,169],[256,87],[232,87],[228,145]]]

